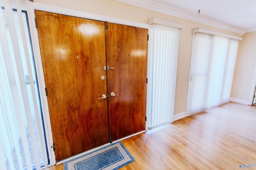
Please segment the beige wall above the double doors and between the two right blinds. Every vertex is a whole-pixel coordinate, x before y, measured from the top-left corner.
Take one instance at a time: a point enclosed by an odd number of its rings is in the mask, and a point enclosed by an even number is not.
[[[174,114],[186,111],[186,101],[188,94],[188,79],[190,72],[190,58],[192,49],[192,29],[201,27],[212,31],[238,36],[237,33],[212,27],[202,23],[185,20],[170,16],[160,12],[140,8],[116,0],[35,0],[44,4],[70,8],[92,14],[99,14],[129,21],[147,23],[150,18],[160,18],[172,22],[182,23],[183,29],[180,31],[180,44],[178,51],[178,70],[176,80],[176,96]]]

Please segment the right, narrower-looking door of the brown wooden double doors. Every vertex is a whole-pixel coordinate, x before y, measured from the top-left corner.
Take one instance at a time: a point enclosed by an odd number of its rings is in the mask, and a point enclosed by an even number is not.
[[[115,23],[107,28],[107,65],[114,67],[108,70],[110,137],[115,141],[146,127],[148,29]]]

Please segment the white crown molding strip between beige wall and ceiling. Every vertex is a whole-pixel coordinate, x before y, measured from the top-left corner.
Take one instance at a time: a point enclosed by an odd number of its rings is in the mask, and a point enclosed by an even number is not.
[[[220,29],[227,30],[227,31],[235,32],[235,33],[238,33],[238,34],[243,32],[243,30],[240,29],[240,28],[236,28],[236,27],[233,27],[231,25],[226,25],[224,23],[209,20],[209,19],[206,19],[206,18],[202,18],[202,17],[199,17],[199,16],[192,15],[192,14],[188,14],[186,12],[176,10],[176,9],[168,7],[168,6],[163,6],[163,5],[160,5],[160,4],[157,4],[157,3],[149,2],[147,0],[116,0],[116,1],[124,2],[124,3],[135,5],[135,6],[139,6],[139,7],[142,7],[142,8],[147,8],[149,10],[154,10],[156,12],[161,12],[161,13],[168,14],[168,15],[171,15],[171,16],[176,16],[176,17],[179,17],[179,18],[183,18],[183,19],[186,19],[186,20],[195,21],[195,22],[198,22],[198,23],[203,23],[203,24],[206,24],[206,25],[210,25],[210,26],[213,26],[213,27],[217,27],[217,28],[220,28]]]

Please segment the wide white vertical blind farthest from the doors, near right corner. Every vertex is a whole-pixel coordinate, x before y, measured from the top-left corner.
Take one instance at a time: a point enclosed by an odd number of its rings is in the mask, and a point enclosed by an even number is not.
[[[218,35],[193,34],[188,115],[229,102],[238,43]]]

